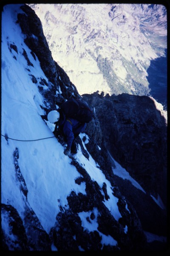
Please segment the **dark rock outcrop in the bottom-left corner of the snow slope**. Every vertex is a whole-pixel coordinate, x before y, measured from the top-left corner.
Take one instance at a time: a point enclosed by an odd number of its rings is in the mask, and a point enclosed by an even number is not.
[[[5,251],[51,251],[48,234],[41,227],[33,210],[26,208],[23,221],[14,207],[10,204],[1,204],[1,214],[6,216],[6,228],[10,230],[9,233],[1,232],[2,249]]]

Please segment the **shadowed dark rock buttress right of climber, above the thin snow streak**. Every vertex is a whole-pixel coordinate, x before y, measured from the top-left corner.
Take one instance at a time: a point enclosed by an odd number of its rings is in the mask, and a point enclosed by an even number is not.
[[[167,125],[153,100],[125,93],[105,97],[94,93],[83,98],[95,107],[113,158],[166,205]]]

